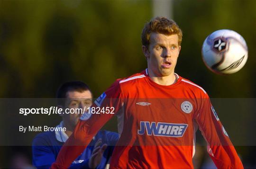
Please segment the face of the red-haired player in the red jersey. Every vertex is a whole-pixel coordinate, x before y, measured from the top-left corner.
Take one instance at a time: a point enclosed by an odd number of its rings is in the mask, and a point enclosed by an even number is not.
[[[154,76],[163,77],[174,73],[174,68],[181,50],[178,35],[151,33],[148,49],[143,46],[148,69]]]

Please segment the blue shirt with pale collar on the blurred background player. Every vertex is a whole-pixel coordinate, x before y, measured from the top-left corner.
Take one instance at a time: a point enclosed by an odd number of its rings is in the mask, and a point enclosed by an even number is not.
[[[108,147],[104,151],[97,169],[105,168],[112,155],[114,145],[119,139],[118,133],[115,132],[99,131],[82,154],[73,161],[70,166],[71,169],[89,168],[91,153],[95,143],[100,138],[102,139],[102,144],[106,143]],[[64,132],[44,132],[37,134],[32,143],[33,165],[39,169],[49,169],[52,163],[55,162],[62,145],[67,139],[68,137]]]

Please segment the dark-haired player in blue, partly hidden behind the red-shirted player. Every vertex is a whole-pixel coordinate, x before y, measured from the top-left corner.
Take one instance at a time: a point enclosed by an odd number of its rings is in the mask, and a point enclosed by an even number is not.
[[[90,107],[92,104],[92,93],[88,86],[80,81],[64,83],[57,91],[58,105],[65,109]],[[74,114],[61,114],[63,121],[57,126],[66,127],[66,131],[39,133],[33,140],[33,164],[37,168],[49,169],[68,137],[73,133],[81,111]],[[78,168],[101,168],[104,169],[117,142],[118,133],[99,131],[95,133],[92,141],[82,154],[68,167]],[[101,144],[103,144],[101,146]],[[107,146],[110,145],[110,146]]]

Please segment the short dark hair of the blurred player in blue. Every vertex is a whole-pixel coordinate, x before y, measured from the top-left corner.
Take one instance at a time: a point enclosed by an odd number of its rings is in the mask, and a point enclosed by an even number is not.
[[[87,86],[87,84],[83,83],[82,81],[69,81],[63,83],[56,92],[56,98],[58,105],[64,105],[64,98],[66,98],[66,94],[69,91],[78,91],[83,92],[91,89]],[[91,92],[92,96],[92,92]]]

